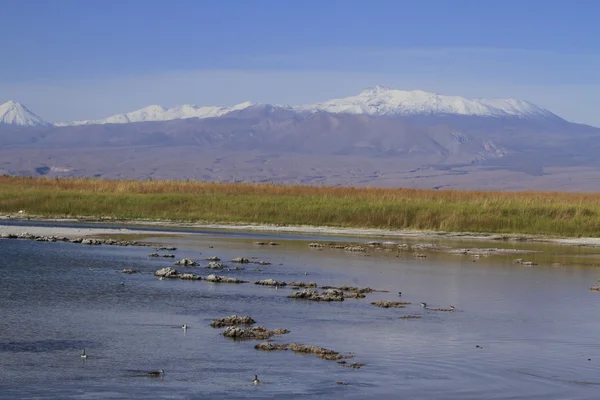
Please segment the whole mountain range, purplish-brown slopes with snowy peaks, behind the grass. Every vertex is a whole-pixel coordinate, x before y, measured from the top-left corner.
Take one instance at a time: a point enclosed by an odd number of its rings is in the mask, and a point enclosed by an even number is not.
[[[321,103],[148,106],[50,124],[0,106],[0,173],[600,190],[600,129],[532,103],[381,86]]]

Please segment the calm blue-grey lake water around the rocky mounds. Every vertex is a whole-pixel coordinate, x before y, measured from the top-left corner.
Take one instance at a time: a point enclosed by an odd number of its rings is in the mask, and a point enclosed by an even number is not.
[[[342,238],[327,240],[334,239]],[[152,273],[173,260],[148,257],[152,248],[0,239],[0,398],[600,398],[600,293],[588,290],[600,278],[600,249],[437,242],[540,251],[472,262],[438,253],[415,259],[411,253],[309,249],[314,237],[258,233],[166,238],[149,231],[144,240],[173,244],[178,259],[199,260],[201,267],[177,269],[201,276],[212,273],[203,268],[207,257],[227,263],[257,257],[272,265],[216,273],[390,292],[307,302],[288,299],[288,288],[160,281]],[[280,245],[257,246],[256,240]],[[517,257],[539,265],[512,264]],[[123,268],[141,273],[125,275]],[[370,304],[397,300],[398,291],[412,305]],[[422,301],[454,304],[457,311],[427,311]],[[233,341],[209,326],[231,314],[291,331],[274,337],[276,343],[351,352],[348,362],[366,365],[351,369],[312,355],[255,350],[257,341]],[[422,318],[398,318],[406,314]],[[84,347],[87,360],[79,356]],[[164,379],[142,376],[161,368]]]

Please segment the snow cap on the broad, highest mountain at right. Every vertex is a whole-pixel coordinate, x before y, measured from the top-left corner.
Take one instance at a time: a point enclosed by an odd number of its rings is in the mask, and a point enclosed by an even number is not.
[[[405,91],[383,86],[357,96],[294,107],[298,111],[367,115],[469,115],[480,117],[559,118],[535,104],[515,99],[473,99],[443,96],[421,90]]]

